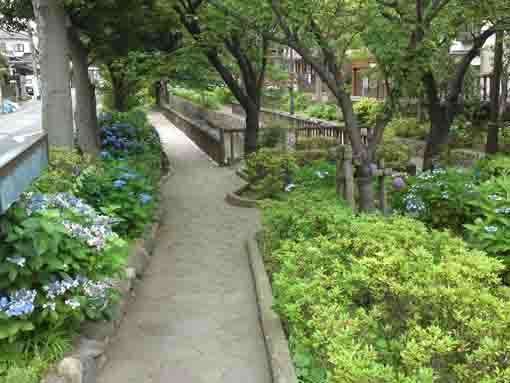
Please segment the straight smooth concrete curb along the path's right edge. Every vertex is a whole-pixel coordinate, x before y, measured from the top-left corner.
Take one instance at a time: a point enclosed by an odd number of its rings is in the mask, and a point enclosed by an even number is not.
[[[264,333],[273,383],[297,383],[289,343],[283,331],[280,316],[273,310],[273,291],[257,241],[254,238],[246,240],[245,250],[255,281],[260,323]]]

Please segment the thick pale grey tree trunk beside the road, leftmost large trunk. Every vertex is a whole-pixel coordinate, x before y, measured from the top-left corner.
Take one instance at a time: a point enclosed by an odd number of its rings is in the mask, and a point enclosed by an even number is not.
[[[69,68],[68,19],[57,0],[32,0],[39,27],[42,77],[42,127],[50,146],[74,143]]]

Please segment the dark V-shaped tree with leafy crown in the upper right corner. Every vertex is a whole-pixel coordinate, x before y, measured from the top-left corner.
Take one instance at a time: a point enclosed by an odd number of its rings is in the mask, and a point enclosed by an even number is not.
[[[389,37],[383,49],[402,59],[393,41],[409,41],[410,54],[405,55],[404,63],[410,76],[422,83],[431,120],[424,161],[425,168],[430,168],[462,109],[464,79],[471,63],[498,26],[507,21],[509,6],[503,0],[375,0],[375,4]],[[450,47],[459,34],[468,37],[469,45],[462,56],[454,58]],[[448,61],[450,70],[444,73]]]

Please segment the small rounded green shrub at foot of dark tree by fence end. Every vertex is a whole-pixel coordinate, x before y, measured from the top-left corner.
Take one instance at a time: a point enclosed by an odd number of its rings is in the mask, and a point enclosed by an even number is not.
[[[290,175],[296,167],[294,157],[261,149],[246,159],[250,185],[260,198],[277,198],[290,183]]]

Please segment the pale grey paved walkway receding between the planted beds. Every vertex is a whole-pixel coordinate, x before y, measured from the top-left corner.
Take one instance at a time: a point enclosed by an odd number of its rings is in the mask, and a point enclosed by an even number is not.
[[[175,175],[166,215],[100,383],[269,383],[252,276],[242,242],[256,210],[227,206],[241,186],[161,114],[151,115]]]

